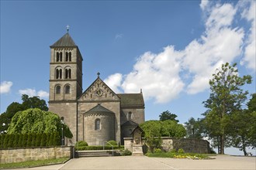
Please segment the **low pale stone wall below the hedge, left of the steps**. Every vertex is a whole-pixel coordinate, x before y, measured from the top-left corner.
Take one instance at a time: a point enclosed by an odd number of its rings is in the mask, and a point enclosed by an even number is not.
[[[0,149],[0,164],[51,158],[71,158],[72,150],[70,146]]]

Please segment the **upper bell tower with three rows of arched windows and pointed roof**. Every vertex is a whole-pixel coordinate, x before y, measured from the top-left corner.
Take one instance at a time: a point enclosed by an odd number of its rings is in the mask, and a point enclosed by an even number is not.
[[[77,100],[82,93],[82,57],[68,33],[50,46],[49,101]]]

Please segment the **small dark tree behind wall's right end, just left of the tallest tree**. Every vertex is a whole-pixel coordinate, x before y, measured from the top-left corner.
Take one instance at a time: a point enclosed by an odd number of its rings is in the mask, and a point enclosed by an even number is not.
[[[202,119],[198,118],[195,120],[194,117],[189,118],[189,121],[185,122],[186,138],[202,139],[202,126]]]

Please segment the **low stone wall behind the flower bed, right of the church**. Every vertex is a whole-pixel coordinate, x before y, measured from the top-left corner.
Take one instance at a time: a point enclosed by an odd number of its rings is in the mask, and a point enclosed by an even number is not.
[[[133,151],[133,138],[123,138],[124,139],[124,148],[129,151]],[[209,141],[201,139],[192,139],[192,138],[171,138],[171,137],[161,137],[162,139],[162,149],[164,151],[171,151],[171,149],[178,150],[182,148],[185,152],[189,153],[199,153],[199,154],[208,154]],[[144,139],[143,139],[143,143]]]

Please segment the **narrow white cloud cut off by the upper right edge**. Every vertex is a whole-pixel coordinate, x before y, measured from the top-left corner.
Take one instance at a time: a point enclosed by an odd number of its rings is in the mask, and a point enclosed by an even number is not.
[[[251,29],[250,29],[250,33],[248,35],[248,39],[247,39],[247,45],[245,46],[244,49],[244,59],[241,60],[241,64],[242,65],[246,65],[247,68],[250,68],[252,70],[256,70],[256,26],[255,26],[255,22],[256,22],[256,12],[255,12],[255,8],[256,8],[256,2],[255,1],[251,1],[250,5],[248,8],[244,8],[244,11],[242,12],[242,17],[244,19],[247,19],[248,22],[251,22]]]

